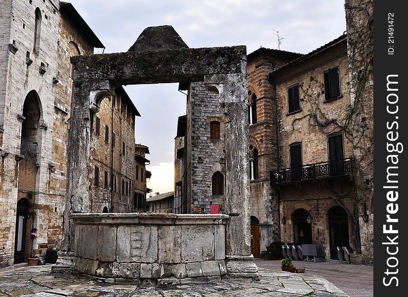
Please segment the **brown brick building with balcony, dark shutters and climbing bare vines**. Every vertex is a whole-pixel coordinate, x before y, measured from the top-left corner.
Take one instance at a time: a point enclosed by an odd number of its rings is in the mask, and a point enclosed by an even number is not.
[[[345,7],[347,36],[306,55],[248,55],[255,256],[282,241],[373,263],[372,1]]]

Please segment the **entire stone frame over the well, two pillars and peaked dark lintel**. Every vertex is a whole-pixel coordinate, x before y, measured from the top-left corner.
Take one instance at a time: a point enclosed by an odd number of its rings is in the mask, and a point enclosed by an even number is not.
[[[128,52],[75,56],[62,246],[73,250],[72,213],[89,212],[90,119],[119,85],[204,82],[224,107],[227,272],[255,276],[250,240],[247,59],[244,46],[189,49],[171,26],[146,28]],[[75,214],[78,216],[78,214]]]

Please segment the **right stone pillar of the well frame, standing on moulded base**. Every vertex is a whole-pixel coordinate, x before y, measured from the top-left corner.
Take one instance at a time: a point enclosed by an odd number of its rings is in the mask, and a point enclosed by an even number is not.
[[[218,91],[225,110],[225,209],[230,215],[226,226],[227,272],[230,276],[255,277],[258,269],[252,262],[250,237],[246,61],[243,64],[243,73],[204,76],[204,84],[208,91]]]

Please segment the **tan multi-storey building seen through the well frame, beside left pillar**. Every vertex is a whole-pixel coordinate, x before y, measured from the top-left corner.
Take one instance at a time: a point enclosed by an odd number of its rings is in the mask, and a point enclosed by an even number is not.
[[[135,180],[138,177],[134,145],[136,116],[140,113],[122,86],[115,88],[113,96],[103,99],[101,110],[94,114],[90,212],[133,212],[138,206],[134,199],[138,183]],[[144,170],[143,167],[143,180]]]

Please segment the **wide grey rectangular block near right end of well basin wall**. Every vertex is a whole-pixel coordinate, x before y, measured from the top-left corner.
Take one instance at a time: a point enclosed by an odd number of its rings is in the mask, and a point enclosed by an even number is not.
[[[201,262],[214,259],[213,225],[181,227],[182,262]]]

